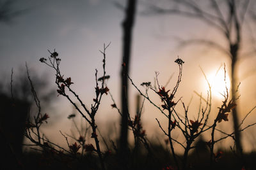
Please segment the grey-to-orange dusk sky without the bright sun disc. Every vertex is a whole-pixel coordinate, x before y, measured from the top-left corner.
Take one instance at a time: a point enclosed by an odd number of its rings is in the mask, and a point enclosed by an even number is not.
[[[117,106],[120,107],[124,11],[116,7],[114,2],[112,0],[22,0],[15,2],[13,8],[25,10],[24,13],[12,18],[8,23],[0,23],[0,73],[3,74],[4,81],[10,81],[12,68],[15,81],[15,75],[19,75],[19,68],[27,63],[31,74],[35,71],[40,78],[49,81],[52,89],[56,89],[54,71],[39,62],[41,57],[49,56],[47,50],[52,52],[55,49],[61,57],[62,73],[72,78],[74,82],[72,86],[89,107],[95,95],[95,69],[99,70],[99,76],[102,75],[103,57],[99,50],[103,49],[104,43],[111,43],[106,50],[106,72],[111,76],[108,80],[108,88]],[[124,2],[118,1],[120,4],[125,4]],[[176,38],[203,35],[204,38],[220,39],[220,36],[214,32],[212,27],[197,20],[170,15],[145,15],[143,14],[145,8],[147,6],[144,3],[139,3],[133,30],[131,73],[129,74],[138,86],[144,81],[154,81],[155,71],[160,73],[161,85],[164,85],[173,74],[169,85],[171,89],[179,73],[179,67],[173,61],[179,55],[185,64],[177,95],[182,97],[187,104],[193,97],[192,104],[195,105],[191,108],[193,112],[199,106],[199,98],[194,91],[207,94],[207,83],[200,67],[205,74],[211,76],[222,66],[220,74],[222,73],[221,76],[223,76],[223,64],[229,66],[230,60],[220,52],[202,46],[178,48]],[[250,38],[250,36],[244,37]],[[225,44],[225,42],[221,43]],[[239,75],[243,76],[255,69],[254,63],[255,57],[241,62]],[[221,78],[211,81],[221,81]],[[255,73],[246,76],[241,81],[240,88],[241,106],[239,110],[243,112],[241,113],[243,116],[256,104]],[[135,112],[136,94],[138,92],[131,87],[129,96],[132,113]],[[155,96],[153,98],[160,104],[156,95],[150,94]],[[216,109],[221,103],[220,94],[214,92],[213,96],[217,103],[213,104],[213,107]],[[111,97],[105,96],[99,115],[97,115],[99,126],[104,127],[111,122],[116,122],[116,126],[119,125],[120,117],[115,110],[111,109],[111,104],[113,104]],[[163,117],[147,102],[145,106],[147,107],[143,109],[142,116],[145,128],[156,129],[158,125],[155,118]],[[49,136],[54,136],[54,133],[58,133],[60,129],[69,132],[72,126],[72,122],[67,120],[68,115],[74,111],[71,104],[59,96],[54,101],[54,107],[55,110],[47,110],[50,117],[55,119],[50,120],[52,121],[51,129],[56,129],[56,131],[48,131]],[[159,132],[158,130],[156,132]]]

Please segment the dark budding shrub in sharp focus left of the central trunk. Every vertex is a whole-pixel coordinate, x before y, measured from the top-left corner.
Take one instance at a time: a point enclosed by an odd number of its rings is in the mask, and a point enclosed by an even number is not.
[[[88,122],[88,124],[90,125],[90,128],[92,129],[92,135],[91,138],[94,139],[95,141],[95,146],[94,147],[92,144],[84,144],[84,136],[80,136],[79,139],[77,139],[77,141],[79,142],[80,145],[83,146],[83,149],[85,149],[86,152],[96,152],[99,156],[99,160],[100,160],[100,166],[102,169],[105,169],[105,165],[104,165],[104,159],[102,157],[102,152],[100,150],[100,143],[99,143],[99,137],[97,134],[97,124],[95,122],[95,115],[99,109],[100,106],[100,101],[102,99],[102,96],[104,94],[108,94],[108,87],[105,86],[105,78],[106,77],[106,71],[105,71],[105,65],[106,65],[106,49],[108,48],[109,45],[105,46],[104,45],[104,50],[100,51],[104,57],[103,59],[103,76],[102,78],[100,78],[100,80],[102,81],[101,85],[99,85],[98,80],[97,80],[97,69],[96,69],[96,73],[95,73],[95,80],[96,80],[96,87],[95,87],[95,98],[93,99],[93,104],[91,105],[90,110],[88,108],[86,108],[85,104],[83,103],[83,101],[81,100],[81,98],[78,96],[78,94],[76,94],[76,92],[74,90],[72,90],[72,84],[73,82],[71,81],[70,77],[64,78],[64,75],[61,74],[60,71],[60,62],[61,59],[58,56],[58,53],[55,52],[50,52],[50,57],[48,57],[48,59],[45,58],[41,58],[40,62],[43,62],[44,64],[46,64],[47,66],[51,67],[52,69],[54,69],[54,71],[56,71],[56,79],[55,79],[55,83],[58,87],[57,92],[58,92],[58,96],[64,96],[68,99],[68,101],[76,108],[76,110],[79,112],[79,114],[86,120],[86,122]],[[29,77],[29,74],[28,74]],[[69,153],[71,155],[73,155],[72,157],[77,157],[77,154],[79,152],[79,149],[81,148],[80,145],[77,145],[77,143],[73,143],[72,145],[70,145],[68,143],[68,139],[67,137],[62,134],[67,141],[67,145],[69,150],[65,150],[64,148],[62,148],[61,146],[58,146],[54,143],[51,143],[48,139],[44,138],[44,135],[41,134],[41,132],[39,131],[40,126],[46,122],[47,118],[49,118],[49,116],[47,115],[47,113],[45,113],[44,115],[42,115],[41,113],[41,107],[40,107],[40,101],[38,99],[38,97],[36,96],[36,92],[35,89],[33,89],[33,83],[32,81],[29,79],[29,81],[31,82],[31,91],[33,92],[33,96],[35,97],[35,103],[36,106],[38,107],[38,114],[37,116],[34,118],[33,121],[28,120],[27,122],[27,131],[26,131],[26,137],[32,142],[35,143],[35,145],[40,146],[41,148],[51,148],[51,150],[56,151],[58,153],[63,153],[60,150],[56,150],[54,147],[49,146],[49,144],[57,146],[58,148],[60,148],[61,150],[65,151],[66,153]],[[68,91],[70,92],[70,94],[68,94]],[[76,97],[78,103],[82,106],[83,110],[81,110],[79,108],[79,106],[77,106],[76,102],[74,101],[74,99],[71,99],[70,96],[74,96]],[[70,115],[70,118],[72,118],[72,115]],[[33,129],[36,129],[36,132],[34,132]],[[34,136],[31,135],[35,134],[36,138],[34,138]],[[83,152],[83,151],[82,151]]]

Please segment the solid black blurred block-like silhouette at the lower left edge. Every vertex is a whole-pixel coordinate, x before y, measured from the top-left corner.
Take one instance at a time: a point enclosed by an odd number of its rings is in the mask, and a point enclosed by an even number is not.
[[[29,103],[0,94],[0,169],[21,169],[22,143]]]

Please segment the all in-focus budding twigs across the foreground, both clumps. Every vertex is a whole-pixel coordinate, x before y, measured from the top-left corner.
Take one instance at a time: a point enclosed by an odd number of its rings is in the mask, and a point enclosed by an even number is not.
[[[70,164],[72,160],[76,160],[78,163],[77,164],[83,164],[84,159],[92,159],[93,155],[92,153],[97,153],[99,157],[99,162],[100,162],[100,168],[101,169],[120,169],[123,166],[125,168],[130,168],[133,169],[134,165],[131,164],[129,165],[120,165],[120,159],[122,157],[111,157],[112,161],[115,163],[110,164],[109,162],[106,162],[106,157],[109,156],[111,153],[111,149],[109,149],[106,141],[104,140],[103,136],[100,134],[99,129],[97,129],[97,124],[95,122],[95,115],[99,109],[100,106],[100,101],[102,99],[102,96],[104,94],[109,93],[109,89],[106,86],[106,79],[110,78],[110,76],[106,75],[105,71],[105,64],[106,64],[106,48],[108,48],[109,45],[105,46],[104,45],[104,50],[102,52],[104,59],[103,59],[103,76],[100,78],[97,78],[97,70],[95,73],[95,98],[93,99],[93,104],[91,105],[90,110],[86,108],[85,104],[83,101],[80,99],[80,97],[76,94],[74,90],[72,90],[72,80],[70,77],[65,78],[63,74],[61,74],[60,71],[60,57],[58,57],[57,52],[50,52],[51,56],[48,57],[48,59],[41,58],[40,61],[46,64],[47,66],[51,67],[56,71],[56,79],[55,83],[58,87],[57,92],[58,96],[64,96],[68,99],[68,101],[76,108],[77,112],[81,117],[86,121],[87,126],[85,126],[85,129],[79,129],[77,127],[76,122],[74,121],[74,117],[76,115],[74,113],[68,115],[68,118],[74,122],[74,125],[76,127],[76,131],[79,134],[79,137],[76,138],[74,134],[68,135],[68,134],[63,134],[61,131],[61,134],[67,141],[67,146],[68,148],[65,149],[60,145],[56,145],[55,143],[52,143],[50,139],[45,138],[44,134],[40,131],[40,127],[42,124],[47,123],[47,120],[49,119],[49,115],[47,113],[42,113],[41,111],[41,106],[40,106],[40,100],[38,99],[38,96],[36,95],[35,88],[33,87],[33,82],[30,79],[29,72],[28,74],[28,79],[31,85],[31,92],[34,97],[34,101],[36,103],[36,106],[38,108],[37,114],[33,117],[33,119],[28,119],[26,122],[26,132],[25,136],[28,138],[32,145],[28,145],[33,147],[35,150],[40,150],[44,154],[48,154],[51,159],[58,159],[60,162],[66,162],[66,164]],[[200,103],[202,101],[205,101],[205,104],[200,104],[199,111],[197,113],[197,117],[195,119],[191,119],[191,114],[189,113],[189,106],[186,106],[186,104],[182,101],[182,98],[177,98],[176,94],[179,89],[180,82],[182,80],[182,67],[184,64],[184,61],[182,59],[176,59],[175,62],[179,66],[179,75],[177,78],[177,81],[173,87],[172,90],[166,89],[166,87],[163,87],[160,85],[157,76],[159,73],[156,72],[156,85],[152,87],[150,82],[144,82],[141,83],[141,86],[145,89],[145,92],[142,92],[132,81],[131,77],[127,75],[129,80],[131,81],[132,85],[135,87],[136,90],[140,93],[141,96],[143,96],[143,103],[141,104],[141,108],[137,109],[137,113],[134,118],[131,117],[130,113],[128,112],[128,122],[129,122],[129,127],[128,129],[132,131],[133,137],[134,137],[134,148],[132,148],[132,152],[127,153],[127,157],[133,157],[134,155],[139,155],[141,154],[138,152],[138,148],[140,148],[140,143],[142,143],[145,146],[145,149],[147,150],[147,157],[152,157],[153,159],[156,159],[158,161],[159,157],[154,155],[154,146],[151,145],[150,140],[147,139],[146,135],[146,129],[143,129],[142,122],[141,122],[141,111],[144,106],[145,101],[149,101],[151,104],[154,105],[154,107],[157,108],[157,110],[160,111],[161,114],[166,117],[168,120],[168,126],[167,129],[164,129],[163,125],[161,122],[156,118],[157,125],[159,125],[159,128],[161,131],[163,131],[164,135],[168,137],[168,140],[165,142],[170,145],[171,153],[173,160],[175,162],[175,166],[172,164],[164,164],[163,169],[189,169],[188,166],[188,157],[189,157],[189,152],[193,149],[196,148],[195,141],[198,139],[198,137],[202,136],[203,133],[205,132],[210,132],[211,133],[211,139],[209,139],[205,145],[209,146],[209,163],[210,165],[214,165],[215,162],[221,159],[221,156],[223,155],[222,151],[218,151],[214,153],[214,145],[228,137],[234,139],[234,143],[236,143],[236,138],[235,138],[235,132],[232,133],[227,133],[225,131],[221,131],[220,129],[217,129],[218,124],[221,122],[228,121],[228,114],[232,109],[236,107],[236,103],[234,102],[234,99],[230,99],[229,94],[228,94],[228,89],[226,87],[226,91],[223,94],[223,102],[221,106],[218,108],[218,113],[214,115],[214,119],[210,121],[209,115],[212,112],[211,107],[212,107],[212,96],[211,96],[211,85],[207,81],[209,85],[209,90],[207,92],[207,98],[204,99],[202,95],[200,96]],[[226,70],[224,67],[224,71],[226,74]],[[204,73],[204,72],[203,72]],[[205,74],[204,74],[205,76]],[[225,78],[224,78],[225,79]],[[205,76],[205,80],[207,80]],[[98,81],[100,81],[101,85],[99,85]],[[237,87],[238,88],[238,87]],[[155,104],[150,97],[148,96],[148,90],[152,90],[160,99],[161,99],[161,106],[158,106],[158,104]],[[110,94],[110,93],[109,93]],[[76,100],[71,99],[71,96],[74,96]],[[111,96],[111,94],[110,94]],[[113,99],[113,96],[111,96],[111,99],[113,101],[113,104],[111,106],[115,108],[118,113],[120,113],[120,116],[122,117],[123,114],[122,112],[118,109],[116,106],[115,100]],[[77,104],[78,103],[78,104]],[[177,105],[180,104],[182,106],[183,114],[179,111],[177,111],[176,107]],[[81,108],[79,108],[79,105],[81,105]],[[203,106],[204,105],[204,106]],[[254,108],[252,109],[254,110]],[[252,110],[246,115],[252,113]],[[213,113],[211,113],[212,115]],[[246,117],[243,118],[241,125],[244,123],[244,120]],[[247,125],[246,127],[241,128],[241,131],[244,131],[248,127],[251,127],[254,124]],[[89,134],[89,129],[92,134]],[[84,131],[84,132],[83,132]],[[173,137],[173,132],[174,131],[180,131],[180,134],[184,136],[185,143],[184,141],[180,141],[180,139],[175,139]],[[224,136],[216,139],[214,134],[216,131],[221,132]],[[103,142],[106,144],[106,148],[108,149],[106,152],[102,152],[100,148],[100,143],[99,143],[99,136],[102,137]],[[92,143],[87,143],[86,138],[90,136],[90,138],[93,138],[95,141],[95,146]],[[69,143],[68,138],[72,138],[75,140],[74,143]],[[109,139],[111,140],[111,139]],[[184,152],[182,155],[177,154],[177,148],[175,148],[174,144],[177,143],[180,145],[183,149]],[[112,141],[113,144],[113,150],[118,153],[118,148],[116,148],[115,143]],[[39,149],[38,149],[39,147]],[[86,156],[85,153],[88,153],[88,157]],[[48,160],[49,160],[48,157]],[[51,160],[50,159],[50,160]],[[162,159],[162,158],[160,158]],[[90,160],[88,160],[90,161]],[[133,160],[132,160],[133,161]],[[139,161],[139,160],[137,160]],[[67,163],[69,162],[69,163]],[[74,162],[74,161],[73,161]],[[130,164],[131,162],[129,162]],[[106,166],[108,164],[108,166]],[[244,166],[244,164],[243,164]],[[69,167],[69,166],[68,166]],[[97,167],[95,165],[94,167]],[[161,168],[162,168],[161,167]],[[214,167],[214,166],[213,166]],[[72,166],[70,166],[72,168]],[[242,167],[241,167],[242,168]]]

